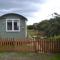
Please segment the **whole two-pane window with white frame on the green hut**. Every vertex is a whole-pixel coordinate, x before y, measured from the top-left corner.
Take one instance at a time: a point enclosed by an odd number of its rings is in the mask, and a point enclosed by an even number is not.
[[[19,32],[20,20],[19,19],[6,19],[6,31],[7,32]]]

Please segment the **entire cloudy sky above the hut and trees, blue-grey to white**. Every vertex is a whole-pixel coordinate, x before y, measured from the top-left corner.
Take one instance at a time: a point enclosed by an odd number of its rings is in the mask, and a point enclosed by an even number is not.
[[[0,0],[0,16],[17,13],[25,16],[27,25],[49,19],[52,14],[60,14],[60,0]]]

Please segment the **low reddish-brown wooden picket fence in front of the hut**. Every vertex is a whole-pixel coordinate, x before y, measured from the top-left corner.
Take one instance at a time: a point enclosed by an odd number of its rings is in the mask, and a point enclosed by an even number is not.
[[[0,51],[60,53],[60,40],[0,39]]]

